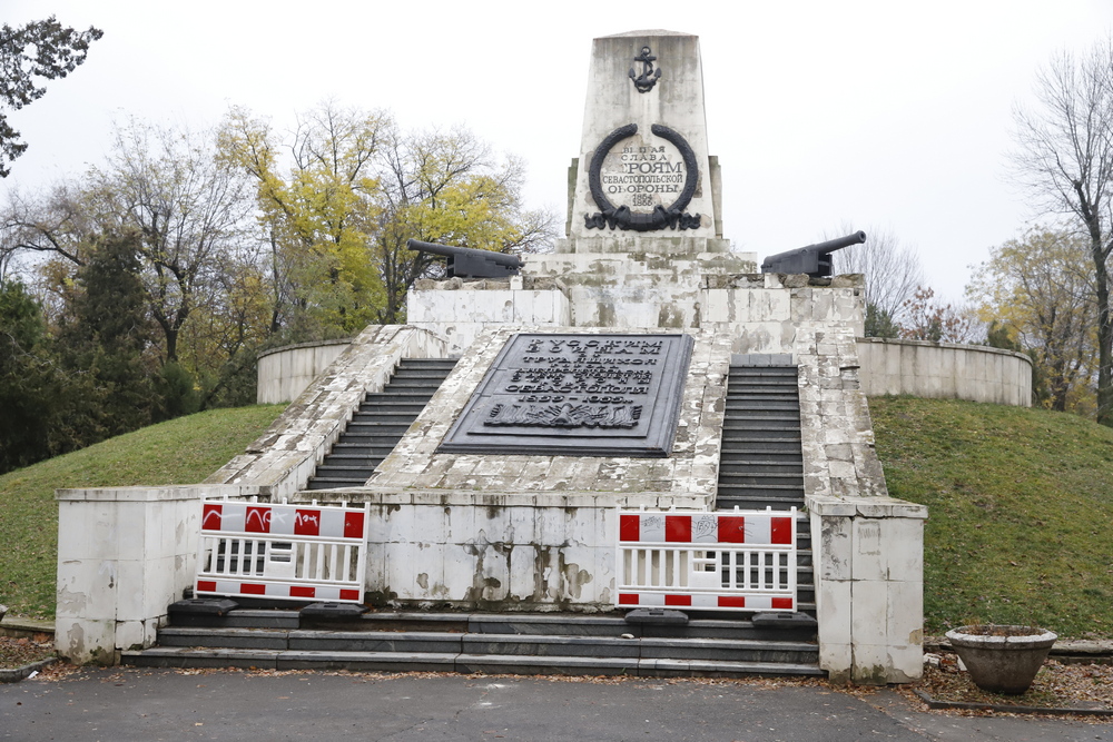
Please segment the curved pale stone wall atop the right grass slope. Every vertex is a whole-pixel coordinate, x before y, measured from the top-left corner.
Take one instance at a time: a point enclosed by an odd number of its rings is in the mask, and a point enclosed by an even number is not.
[[[907,394],[1032,406],[1032,359],[984,345],[858,338],[866,396]]]

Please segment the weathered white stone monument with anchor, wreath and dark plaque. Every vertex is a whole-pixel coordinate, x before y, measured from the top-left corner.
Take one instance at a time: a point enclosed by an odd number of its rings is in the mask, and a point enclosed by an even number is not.
[[[364,330],[201,488],[60,493],[62,531],[111,501],[181,534],[149,540],[157,568],[60,552],[63,653],[154,641],[191,578],[201,493],[370,504],[366,590],[383,605],[614,611],[619,509],[715,511],[730,368],[777,364],[796,369],[820,666],[918,676],[926,511],[888,497],[873,448],[861,277],[762,274],[730,251],[697,37],[594,40],[569,184],[554,253],[522,256],[519,275],[418,281],[407,325]],[[451,375],[365,482],[306,489],[364,393],[403,358],[445,356]],[[92,615],[76,585],[121,561],[145,606]]]

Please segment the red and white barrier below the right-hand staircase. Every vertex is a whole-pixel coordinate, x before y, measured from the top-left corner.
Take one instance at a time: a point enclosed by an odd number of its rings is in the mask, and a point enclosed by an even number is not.
[[[796,508],[620,511],[619,607],[796,611]]]

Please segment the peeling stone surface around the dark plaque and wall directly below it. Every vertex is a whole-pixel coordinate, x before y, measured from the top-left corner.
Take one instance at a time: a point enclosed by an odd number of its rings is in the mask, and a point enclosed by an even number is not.
[[[617,508],[711,507],[731,346],[713,330],[689,330],[696,346],[668,458],[436,453],[506,339],[535,329],[482,336],[365,487],[298,495],[372,503],[374,600],[610,611]]]

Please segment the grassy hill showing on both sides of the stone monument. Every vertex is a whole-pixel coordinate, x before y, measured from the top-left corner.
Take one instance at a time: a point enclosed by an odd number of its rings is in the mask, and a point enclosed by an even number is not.
[[[0,603],[53,614],[56,488],[199,482],[280,409],[201,413],[0,476]],[[965,402],[870,409],[889,492],[930,508],[929,633],[979,620],[1113,636],[1113,429]]]

